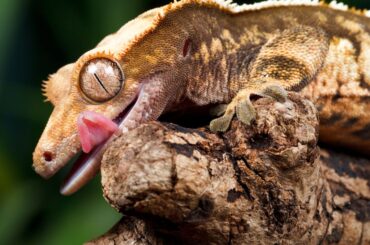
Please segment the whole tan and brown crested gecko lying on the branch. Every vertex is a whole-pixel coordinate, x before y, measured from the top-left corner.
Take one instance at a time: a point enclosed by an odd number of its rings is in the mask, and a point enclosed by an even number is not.
[[[321,140],[370,147],[370,19],[317,1],[238,6],[183,0],[147,11],[45,83],[55,106],[33,154],[50,177],[86,153],[62,187],[71,194],[99,170],[121,132],[167,111],[217,105],[213,131],[255,118],[250,95],[286,100],[301,90],[320,111]]]

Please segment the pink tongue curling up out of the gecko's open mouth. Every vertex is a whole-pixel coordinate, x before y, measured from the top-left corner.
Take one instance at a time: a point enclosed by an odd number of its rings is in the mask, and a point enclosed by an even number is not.
[[[94,146],[106,141],[117,129],[117,124],[99,113],[82,112],[77,119],[78,137],[82,151],[89,153]]]

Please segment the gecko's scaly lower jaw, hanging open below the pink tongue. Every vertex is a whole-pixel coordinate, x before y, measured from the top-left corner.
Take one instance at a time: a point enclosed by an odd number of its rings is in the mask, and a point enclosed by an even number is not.
[[[73,194],[99,172],[104,152],[120,133],[134,129],[141,123],[158,119],[171,98],[171,96],[164,95],[166,91],[164,89],[165,84],[159,74],[142,80],[128,106],[115,119],[112,119],[118,125],[118,130],[112,135],[110,134],[111,136],[107,135],[107,138],[102,138],[103,141],[97,141],[98,145],[94,145],[88,154],[80,154],[62,184],[61,194]],[[94,136],[98,136],[98,134]],[[80,142],[81,140],[82,138],[80,138]]]

